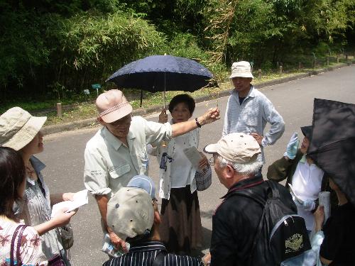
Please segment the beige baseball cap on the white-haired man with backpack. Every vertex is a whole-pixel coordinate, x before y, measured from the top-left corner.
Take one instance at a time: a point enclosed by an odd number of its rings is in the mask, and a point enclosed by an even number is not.
[[[217,153],[229,162],[252,162],[256,160],[261,148],[252,135],[230,133],[224,135],[217,143],[204,147],[205,153]]]

